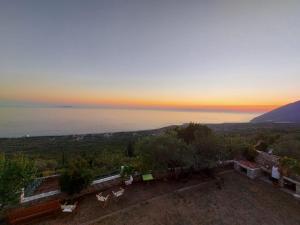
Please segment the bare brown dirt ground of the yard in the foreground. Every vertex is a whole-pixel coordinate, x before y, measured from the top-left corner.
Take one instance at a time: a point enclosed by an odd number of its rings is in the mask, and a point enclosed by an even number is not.
[[[300,201],[262,181],[230,172],[224,187],[193,177],[187,182],[136,184],[119,202],[102,209],[95,196],[75,214],[37,224],[92,225],[298,225]]]

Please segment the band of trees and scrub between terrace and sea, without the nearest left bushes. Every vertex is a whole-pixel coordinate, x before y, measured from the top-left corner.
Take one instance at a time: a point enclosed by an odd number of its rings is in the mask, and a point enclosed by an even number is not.
[[[217,161],[246,158],[253,149],[300,160],[300,127],[291,124],[190,123],[164,129],[114,134],[4,138],[0,151],[8,158],[21,153],[34,161],[39,176],[62,173],[80,157],[93,177],[120,170],[161,170],[166,167],[213,167]]]

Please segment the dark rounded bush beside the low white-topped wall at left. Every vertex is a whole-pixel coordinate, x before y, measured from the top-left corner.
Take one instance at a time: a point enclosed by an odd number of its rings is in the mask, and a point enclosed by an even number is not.
[[[80,193],[91,183],[92,178],[88,162],[82,158],[75,159],[62,171],[59,179],[61,191],[69,195]]]

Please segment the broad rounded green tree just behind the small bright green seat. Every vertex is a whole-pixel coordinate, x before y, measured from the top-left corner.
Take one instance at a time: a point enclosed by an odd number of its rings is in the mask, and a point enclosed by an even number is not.
[[[145,137],[136,144],[136,149],[142,170],[166,170],[193,163],[187,145],[171,135]]]

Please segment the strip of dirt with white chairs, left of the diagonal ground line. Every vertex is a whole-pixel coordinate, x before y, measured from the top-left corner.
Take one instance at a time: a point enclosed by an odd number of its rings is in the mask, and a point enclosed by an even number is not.
[[[224,172],[226,172],[226,170],[222,173]],[[232,170],[229,170],[229,172],[232,172]],[[213,179],[203,173],[193,174],[188,178],[180,180],[163,179],[154,180],[150,183],[138,181],[125,188],[125,194],[118,202],[111,198],[107,207],[102,208],[100,202],[96,199],[95,193],[98,193],[101,190],[104,195],[107,195],[111,194],[112,191],[118,190],[120,187],[119,185],[111,185],[108,188],[99,189],[98,192],[91,190],[90,194],[84,194],[78,197],[79,207],[74,213],[59,213],[57,215],[52,215],[47,221],[45,221],[44,218],[40,218],[40,222],[37,221],[36,224],[84,224],[112,212],[119,211],[120,209],[132,207],[141,203],[143,204],[143,202],[147,202],[149,199],[168,195],[176,190],[188,189],[194,185],[206,182],[213,182]],[[56,197],[61,198],[62,196],[57,195]]]

